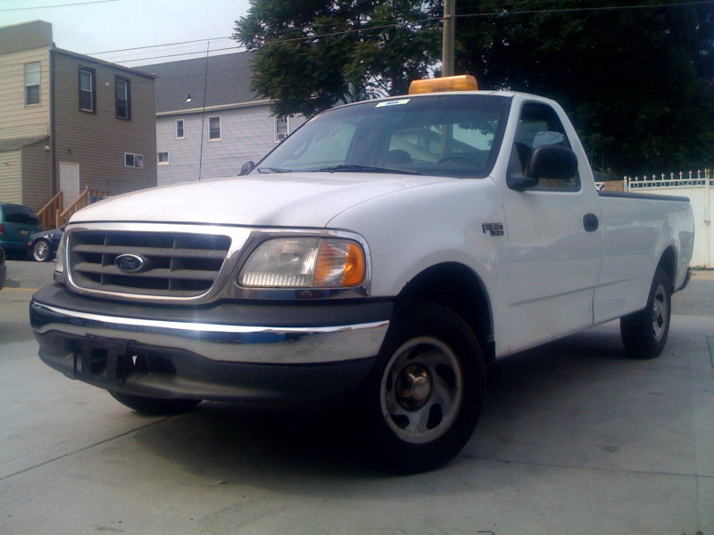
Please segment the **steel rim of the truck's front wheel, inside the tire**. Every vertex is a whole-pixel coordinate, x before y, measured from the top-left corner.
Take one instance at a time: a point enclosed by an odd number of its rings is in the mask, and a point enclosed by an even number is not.
[[[424,336],[405,342],[382,376],[382,416],[397,438],[411,444],[438,439],[456,421],[463,373],[453,350]]]

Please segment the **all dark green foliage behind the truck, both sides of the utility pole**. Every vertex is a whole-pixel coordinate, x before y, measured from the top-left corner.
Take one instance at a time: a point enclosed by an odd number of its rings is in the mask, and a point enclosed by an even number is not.
[[[251,0],[234,37],[255,52],[253,88],[273,111],[311,116],[434,75],[442,1]],[[714,4],[677,4],[457,0],[456,72],[560,102],[599,169],[707,164]]]

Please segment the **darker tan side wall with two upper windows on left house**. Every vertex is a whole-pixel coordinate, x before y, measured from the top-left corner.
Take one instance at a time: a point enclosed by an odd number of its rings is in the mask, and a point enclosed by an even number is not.
[[[79,185],[110,194],[156,185],[154,78],[65,51],[53,51],[55,184],[59,161],[79,163]],[[95,70],[95,113],[79,110],[79,69]],[[128,78],[131,119],[115,112],[116,77]],[[124,165],[141,154],[144,168]]]

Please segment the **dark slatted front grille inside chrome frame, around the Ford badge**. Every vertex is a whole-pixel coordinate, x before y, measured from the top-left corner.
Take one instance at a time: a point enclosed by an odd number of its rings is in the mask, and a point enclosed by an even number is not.
[[[87,290],[161,297],[195,297],[211,289],[226,259],[223,235],[120,231],[71,233],[69,262],[73,284]],[[130,254],[143,268],[126,273],[114,260]]]

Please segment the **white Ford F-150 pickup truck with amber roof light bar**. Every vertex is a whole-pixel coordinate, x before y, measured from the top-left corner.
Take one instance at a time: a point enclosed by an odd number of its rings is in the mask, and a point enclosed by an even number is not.
[[[659,355],[688,200],[598,192],[557,103],[474,86],[419,81],[243,177],[80,210],[30,304],[40,358],[148,413],[347,398],[410,473],[469,440],[496,358],[616,318]]]

